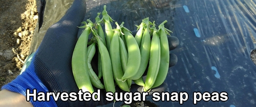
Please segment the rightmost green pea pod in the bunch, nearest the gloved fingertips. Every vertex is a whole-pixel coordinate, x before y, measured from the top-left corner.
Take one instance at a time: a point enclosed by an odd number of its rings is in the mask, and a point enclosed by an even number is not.
[[[157,74],[156,81],[152,88],[158,87],[161,84],[163,84],[169,68],[169,45],[168,45],[168,38],[167,34],[168,32],[171,32],[164,28],[164,23],[167,21],[163,21],[159,26],[159,37],[160,37],[160,47],[161,47],[161,62],[159,67],[159,72]]]

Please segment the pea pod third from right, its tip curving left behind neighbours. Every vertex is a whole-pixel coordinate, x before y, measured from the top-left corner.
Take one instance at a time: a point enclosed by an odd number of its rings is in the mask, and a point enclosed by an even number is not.
[[[141,62],[140,67],[136,75],[130,77],[133,80],[139,79],[146,70],[148,60],[150,58],[150,44],[151,44],[151,37],[150,37],[150,29],[149,29],[149,20],[148,18],[143,19],[142,23],[145,24],[145,30],[142,35],[141,45],[140,45],[140,55],[141,55]]]

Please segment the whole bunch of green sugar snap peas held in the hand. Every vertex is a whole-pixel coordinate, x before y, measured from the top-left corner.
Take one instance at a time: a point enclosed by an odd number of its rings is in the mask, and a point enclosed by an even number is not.
[[[82,22],[84,26],[79,28],[84,28],[84,31],[73,51],[72,71],[79,89],[93,93],[94,86],[114,93],[117,85],[123,91],[129,92],[133,81],[143,86],[143,91],[149,91],[164,82],[169,66],[167,35],[171,32],[164,28],[166,20],[157,29],[155,21],[144,18],[137,26],[138,32],[135,36],[123,26],[124,22],[120,25],[115,22],[116,29],[112,28],[113,19],[106,11],[106,6],[102,13],[97,14],[95,21],[93,23],[88,19]],[[93,38],[88,42],[90,34]],[[96,51],[98,75],[91,66]],[[145,70],[147,73],[144,82],[142,75]]]

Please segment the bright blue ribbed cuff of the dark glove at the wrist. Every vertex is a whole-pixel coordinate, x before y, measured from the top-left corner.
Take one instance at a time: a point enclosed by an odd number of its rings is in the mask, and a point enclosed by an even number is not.
[[[49,91],[46,88],[46,86],[42,84],[42,82],[36,75],[34,68],[35,68],[35,65],[32,60],[32,63],[26,69],[26,71],[18,75],[17,78],[14,79],[12,82],[3,86],[2,90],[6,89],[12,92],[22,94],[26,97],[26,99],[27,99],[27,95],[30,94],[29,99],[30,99],[30,102],[33,104],[33,106],[57,106],[52,96],[50,96],[50,101],[38,101],[37,96],[39,92],[44,92],[46,94],[46,92],[49,92]],[[27,93],[28,89],[30,90],[30,93]],[[33,89],[36,89],[36,93],[33,93]],[[35,97],[33,97],[34,94],[35,94]],[[33,100],[36,100],[36,101],[33,101]]]

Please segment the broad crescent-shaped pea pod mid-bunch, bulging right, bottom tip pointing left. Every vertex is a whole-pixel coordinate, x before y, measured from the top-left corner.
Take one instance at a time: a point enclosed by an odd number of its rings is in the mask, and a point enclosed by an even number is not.
[[[122,22],[122,24],[123,23],[124,22]],[[131,31],[124,28],[122,24],[120,24],[120,28],[124,34],[124,38],[127,44],[127,51],[128,51],[127,67],[122,77],[122,81],[125,81],[125,79],[129,79],[130,77],[137,74],[140,67],[141,56],[140,56],[139,46],[134,36],[131,34]]]

